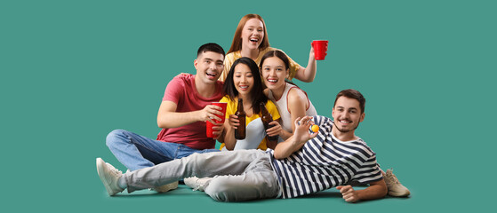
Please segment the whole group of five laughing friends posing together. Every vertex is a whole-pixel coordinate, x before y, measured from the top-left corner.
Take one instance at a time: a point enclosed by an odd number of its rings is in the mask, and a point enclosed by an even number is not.
[[[365,119],[363,95],[340,91],[333,119],[318,115],[307,93],[289,81],[314,80],[314,50],[307,67],[301,67],[269,46],[261,16],[247,14],[240,20],[228,54],[216,43],[200,46],[194,66],[196,75],[178,75],[168,83],[156,139],[127,130],[108,134],[108,148],[128,169],[123,174],[97,158],[109,195],[126,188],[128,193],[148,188],[164,193],[180,180],[215,201],[293,198],[332,187],[348,202],[410,194],[392,170],[380,169],[376,154],[354,133]],[[238,99],[246,113],[242,140],[234,137],[243,125],[235,115]],[[226,114],[212,102],[228,103]],[[261,103],[274,120],[268,130],[261,122]],[[218,115],[226,117],[224,123],[215,121],[221,121]],[[216,138],[207,138],[206,122],[214,125]],[[310,130],[311,125],[319,130]]]

